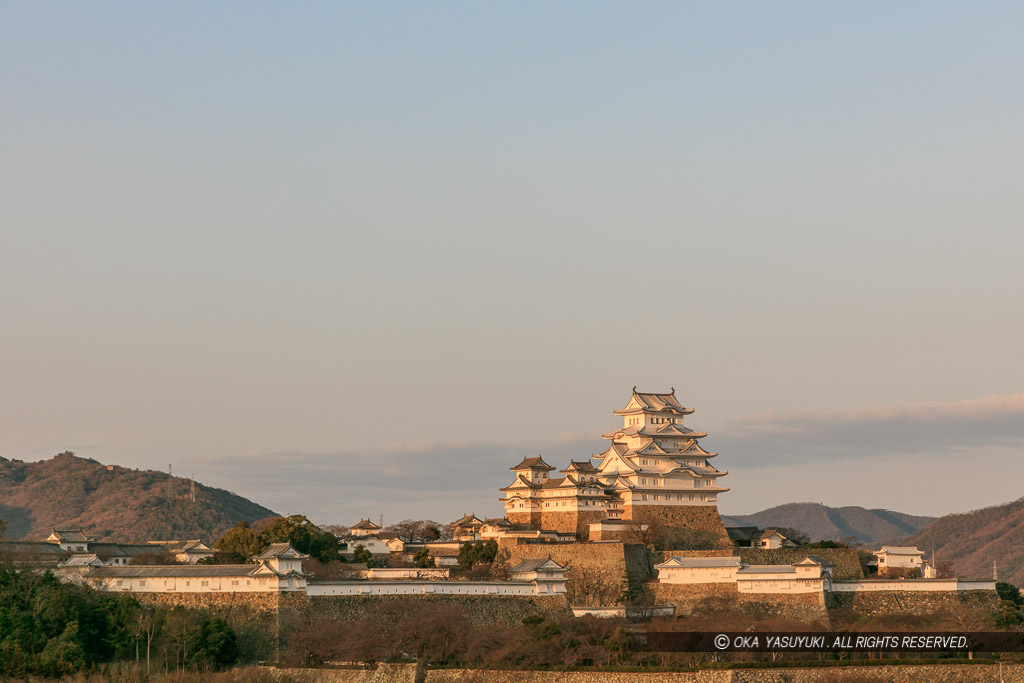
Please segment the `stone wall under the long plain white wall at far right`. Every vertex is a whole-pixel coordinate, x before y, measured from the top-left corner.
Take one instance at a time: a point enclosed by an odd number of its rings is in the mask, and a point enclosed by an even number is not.
[[[992,611],[999,604],[995,591],[863,591],[829,593],[828,606],[861,614],[934,614],[961,609]]]

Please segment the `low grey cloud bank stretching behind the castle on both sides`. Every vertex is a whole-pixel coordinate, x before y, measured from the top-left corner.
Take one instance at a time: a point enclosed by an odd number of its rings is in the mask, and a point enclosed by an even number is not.
[[[729,470],[724,509],[754,512],[806,500],[831,505],[905,508],[941,514],[1014,498],[1015,487],[966,490],[956,463],[966,456],[997,462],[1024,476],[1024,393],[949,402],[831,412],[759,413],[706,439]],[[557,468],[600,452],[599,435],[559,434],[546,442],[397,441],[371,451],[281,452],[197,459],[182,463],[201,481],[234,490],[282,513],[301,512],[322,523],[359,517],[455,519],[467,512],[502,513],[499,488],[509,467],[542,454]],[[892,477],[879,477],[865,459],[885,459]],[[931,464],[931,466],[930,466]],[[177,467],[177,465],[176,465]],[[927,473],[924,479],[922,473]],[[908,477],[919,479],[907,489]],[[839,486],[839,482],[849,485]],[[938,499],[936,492],[944,492]],[[958,496],[952,496],[959,492]],[[943,506],[954,506],[945,509]]]

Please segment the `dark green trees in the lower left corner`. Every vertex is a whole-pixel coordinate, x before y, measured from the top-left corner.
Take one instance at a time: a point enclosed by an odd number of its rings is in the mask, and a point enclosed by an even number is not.
[[[105,661],[210,671],[232,664],[234,633],[219,618],[145,606],[131,596],[0,567],[0,678],[62,677]]]

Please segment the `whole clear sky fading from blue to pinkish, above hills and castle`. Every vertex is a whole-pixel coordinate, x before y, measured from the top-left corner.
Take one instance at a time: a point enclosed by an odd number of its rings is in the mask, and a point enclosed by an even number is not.
[[[497,516],[675,387],[724,513],[1024,495],[1024,5],[0,0],[0,456]]]

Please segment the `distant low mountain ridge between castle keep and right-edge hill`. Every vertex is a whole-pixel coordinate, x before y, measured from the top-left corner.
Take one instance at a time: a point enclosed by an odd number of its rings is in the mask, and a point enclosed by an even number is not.
[[[807,533],[811,541],[854,538],[865,546],[894,543],[916,533],[935,517],[860,506],[831,508],[820,503],[787,503],[750,515],[722,515],[727,526],[784,526]]]

